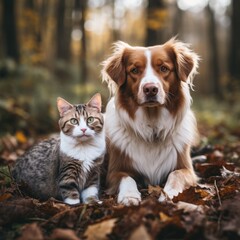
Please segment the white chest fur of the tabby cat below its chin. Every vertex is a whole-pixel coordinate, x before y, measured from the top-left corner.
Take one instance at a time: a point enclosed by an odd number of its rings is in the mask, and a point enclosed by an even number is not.
[[[60,139],[60,150],[67,156],[81,161],[86,171],[89,171],[93,161],[104,154],[106,149],[104,131],[91,141],[83,143],[79,143],[62,132]]]

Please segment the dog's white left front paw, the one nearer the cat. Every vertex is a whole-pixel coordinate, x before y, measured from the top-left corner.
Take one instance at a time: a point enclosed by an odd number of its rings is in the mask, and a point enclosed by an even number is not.
[[[122,178],[119,185],[118,203],[126,206],[138,205],[141,201],[141,193],[138,191],[135,180],[131,177]]]

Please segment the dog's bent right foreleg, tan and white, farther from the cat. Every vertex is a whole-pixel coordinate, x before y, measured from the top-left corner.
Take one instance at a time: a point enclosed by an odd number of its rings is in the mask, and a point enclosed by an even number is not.
[[[177,196],[184,189],[196,185],[197,177],[192,169],[179,169],[171,172],[167,182],[159,197],[159,201],[163,202]]]

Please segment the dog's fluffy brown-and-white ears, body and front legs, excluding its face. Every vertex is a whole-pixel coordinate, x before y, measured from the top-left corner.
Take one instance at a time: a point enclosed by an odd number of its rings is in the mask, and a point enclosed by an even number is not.
[[[174,64],[177,66],[175,71],[181,81],[179,91],[182,103],[174,112],[165,106],[155,108],[156,113],[151,112],[151,108],[146,110],[135,106],[133,117],[126,109],[128,105],[121,104],[120,91],[123,88],[118,81],[121,71],[125,71],[123,55],[126,49],[142,51],[145,48],[117,42],[113,54],[103,62],[103,80],[114,94],[107,105],[105,116],[109,141],[107,181],[109,193],[119,192],[118,201],[126,205],[137,204],[141,200],[134,180],[154,185],[167,181],[164,191],[170,198],[197,181],[190,158],[190,146],[196,141],[197,130],[190,109],[189,87],[193,86],[199,57],[187,44],[175,38],[163,46],[174,56]],[[127,190],[126,184],[131,185],[131,191]],[[162,199],[161,196],[159,200]]]

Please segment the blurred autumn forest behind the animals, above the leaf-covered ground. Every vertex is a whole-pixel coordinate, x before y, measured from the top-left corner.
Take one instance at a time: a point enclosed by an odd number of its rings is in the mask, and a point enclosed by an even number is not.
[[[239,0],[0,0],[0,136],[58,131],[58,96],[100,92],[105,106],[100,63],[113,42],[177,36],[201,57],[192,95],[203,141],[239,141],[239,26]]]

